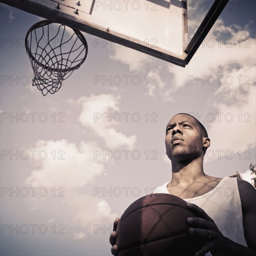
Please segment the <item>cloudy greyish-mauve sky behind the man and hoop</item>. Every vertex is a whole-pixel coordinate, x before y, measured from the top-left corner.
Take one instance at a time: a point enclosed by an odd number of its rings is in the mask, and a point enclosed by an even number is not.
[[[209,2],[188,2],[189,38]],[[207,175],[250,180],[255,1],[230,0],[185,68],[83,33],[86,61],[45,97],[24,46],[43,19],[0,6],[1,255],[110,255],[115,218],[171,180],[164,138],[177,113],[208,131]]]

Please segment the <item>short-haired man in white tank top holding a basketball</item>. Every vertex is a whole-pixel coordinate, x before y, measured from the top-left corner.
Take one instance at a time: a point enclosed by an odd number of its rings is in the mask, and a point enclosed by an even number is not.
[[[179,196],[188,202],[188,208],[204,216],[187,219],[191,236],[208,238],[195,255],[255,256],[256,189],[246,181],[204,173],[203,156],[210,139],[203,125],[191,115],[177,114],[168,122],[165,145],[172,162],[172,180],[155,193]],[[110,235],[113,255],[118,254],[118,221]]]

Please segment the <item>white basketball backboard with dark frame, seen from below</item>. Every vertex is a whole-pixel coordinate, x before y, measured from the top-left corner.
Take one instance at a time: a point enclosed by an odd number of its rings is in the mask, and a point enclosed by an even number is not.
[[[185,67],[228,0],[216,0],[188,44],[187,0],[0,0]]]

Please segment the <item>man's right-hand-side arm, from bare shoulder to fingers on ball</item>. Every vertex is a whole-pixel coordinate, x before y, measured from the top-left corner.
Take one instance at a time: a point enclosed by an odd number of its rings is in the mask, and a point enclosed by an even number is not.
[[[209,230],[211,232],[209,241],[196,253],[197,256],[204,255],[209,251],[214,256],[255,256],[256,189],[246,181],[238,181],[238,189],[242,203],[244,237],[248,248],[223,236],[215,222],[204,212],[203,209],[199,208],[195,204],[187,204],[189,208],[198,211],[203,216],[203,218],[193,217],[189,218],[190,220],[188,219],[188,222],[192,227],[192,229],[189,228],[189,233],[194,236],[208,237]]]

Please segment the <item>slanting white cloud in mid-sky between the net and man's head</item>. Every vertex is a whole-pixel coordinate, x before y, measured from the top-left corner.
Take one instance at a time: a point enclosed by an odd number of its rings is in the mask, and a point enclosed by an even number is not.
[[[120,97],[112,94],[81,97],[78,100],[82,104],[79,119],[83,126],[91,128],[97,136],[101,137],[109,148],[122,146],[132,149],[136,143],[136,136],[127,136],[115,129],[118,122],[114,121],[113,115],[121,114],[119,101]],[[110,119],[104,118],[109,115],[111,115]]]

